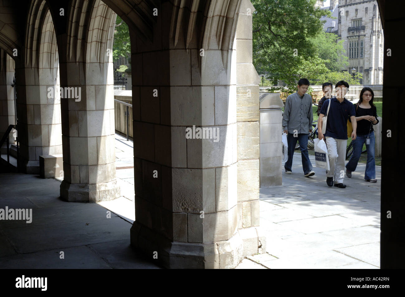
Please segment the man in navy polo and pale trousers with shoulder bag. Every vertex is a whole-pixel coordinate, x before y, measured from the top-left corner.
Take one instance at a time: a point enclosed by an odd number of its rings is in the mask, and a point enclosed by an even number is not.
[[[338,81],[335,86],[336,98],[324,102],[318,118],[318,139],[324,139],[328,148],[330,170],[326,171],[326,184],[339,188],[346,188],[343,184],[345,177],[345,157],[347,146],[347,120],[350,117],[353,126],[352,139],[356,139],[356,111],[353,103],[346,98],[349,84]],[[329,113],[327,113],[328,105]],[[322,134],[322,118],[327,115],[326,132]],[[333,178],[335,177],[335,180]]]

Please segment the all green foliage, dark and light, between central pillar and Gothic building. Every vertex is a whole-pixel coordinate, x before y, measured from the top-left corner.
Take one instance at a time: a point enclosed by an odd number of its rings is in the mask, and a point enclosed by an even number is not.
[[[303,77],[312,84],[336,83],[337,78],[358,84],[341,71],[348,66],[343,41],[323,31],[320,18],[331,17],[328,9],[315,8],[315,0],[252,0],[252,4],[253,63],[266,79],[275,85],[284,81],[290,91]]]

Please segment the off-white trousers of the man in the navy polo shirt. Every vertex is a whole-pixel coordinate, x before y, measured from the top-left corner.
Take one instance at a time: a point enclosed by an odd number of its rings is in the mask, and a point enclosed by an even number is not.
[[[330,170],[326,171],[326,176],[333,177],[334,184],[343,184],[347,139],[335,139],[333,137],[325,137],[325,139],[330,166]]]

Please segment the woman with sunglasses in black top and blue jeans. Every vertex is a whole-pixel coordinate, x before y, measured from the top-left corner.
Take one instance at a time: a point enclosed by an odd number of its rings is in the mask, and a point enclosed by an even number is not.
[[[355,106],[357,137],[352,140],[353,154],[346,164],[346,175],[352,177],[352,172],[356,170],[358,160],[360,159],[363,144],[367,149],[367,165],[364,173],[366,182],[377,182],[375,179],[375,136],[373,125],[378,124],[377,107],[373,104],[374,92],[371,88],[363,88],[360,92],[360,100]]]

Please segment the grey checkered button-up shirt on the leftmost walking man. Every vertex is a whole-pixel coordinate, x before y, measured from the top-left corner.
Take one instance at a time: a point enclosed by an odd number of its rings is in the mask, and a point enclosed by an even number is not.
[[[284,106],[283,130],[292,134],[294,130],[308,134],[312,130],[312,121],[312,97],[309,94],[301,97],[298,92],[288,96]]]

